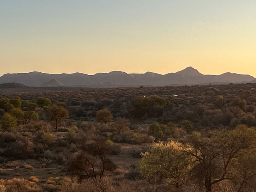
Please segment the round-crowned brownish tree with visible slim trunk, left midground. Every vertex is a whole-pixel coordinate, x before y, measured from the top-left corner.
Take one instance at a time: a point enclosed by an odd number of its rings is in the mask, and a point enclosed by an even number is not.
[[[53,105],[51,108],[46,109],[46,116],[55,122],[56,130],[58,129],[58,124],[69,118],[69,111],[66,110],[63,106]]]

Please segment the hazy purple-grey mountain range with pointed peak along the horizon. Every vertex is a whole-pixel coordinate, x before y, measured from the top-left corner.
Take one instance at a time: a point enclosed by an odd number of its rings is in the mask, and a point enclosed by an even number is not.
[[[76,86],[76,87],[131,87],[131,86],[166,86],[166,85],[193,85],[209,83],[241,83],[255,80],[250,75],[224,73],[221,75],[203,75],[193,67],[187,67],[176,73],[165,75],[146,72],[144,74],[127,74],[123,71],[97,73],[87,75],[47,74],[41,72],[4,74],[0,83],[17,82],[27,86]]]

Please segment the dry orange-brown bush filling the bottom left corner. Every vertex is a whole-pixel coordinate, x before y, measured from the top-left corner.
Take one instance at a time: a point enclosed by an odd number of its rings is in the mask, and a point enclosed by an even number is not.
[[[42,191],[36,183],[28,181],[26,179],[13,178],[13,179],[1,179],[0,191],[2,192],[36,192]]]

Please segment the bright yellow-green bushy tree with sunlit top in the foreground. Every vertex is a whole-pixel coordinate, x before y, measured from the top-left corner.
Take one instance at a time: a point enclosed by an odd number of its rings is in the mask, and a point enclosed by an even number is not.
[[[184,150],[189,148],[177,141],[162,142],[151,145],[148,152],[142,153],[140,173],[156,182],[164,180],[171,185],[182,185],[192,167],[193,157]]]

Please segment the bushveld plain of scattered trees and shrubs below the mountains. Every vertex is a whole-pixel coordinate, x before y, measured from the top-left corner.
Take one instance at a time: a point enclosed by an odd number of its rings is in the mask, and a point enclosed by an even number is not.
[[[0,191],[256,191],[255,88],[1,89]]]

